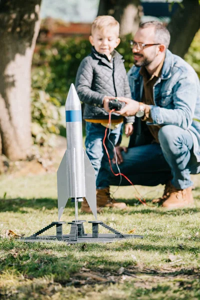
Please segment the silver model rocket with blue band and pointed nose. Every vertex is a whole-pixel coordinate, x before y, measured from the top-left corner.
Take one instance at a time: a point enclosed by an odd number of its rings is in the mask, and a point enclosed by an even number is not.
[[[57,170],[58,220],[68,198],[77,203],[85,197],[96,218],[96,186],[94,168],[82,147],[81,104],[75,87],[71,84],[66,102],[66,141],[67,148]]]

